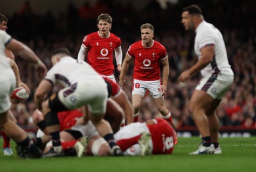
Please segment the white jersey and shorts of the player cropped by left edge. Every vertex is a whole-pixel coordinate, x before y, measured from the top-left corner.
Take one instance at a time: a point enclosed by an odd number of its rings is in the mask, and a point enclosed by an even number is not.
[[[5,56],[5,47],[12,37],[5,31],[0,30],[0,113],[10,109],[10,95],[16,85],[15,74],[10,66],[10,62]]]

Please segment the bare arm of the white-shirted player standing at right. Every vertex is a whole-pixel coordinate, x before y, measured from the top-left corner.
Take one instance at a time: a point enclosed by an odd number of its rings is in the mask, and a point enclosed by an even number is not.
[[[180,74],[179,81],[185,82],[191,75],[200,72],[205,66],[211,63],[214,57],[214,46],[204,47],[201,50],[202,57],[198,59],[195,65],[191,66],[188,70],[185,70]]]

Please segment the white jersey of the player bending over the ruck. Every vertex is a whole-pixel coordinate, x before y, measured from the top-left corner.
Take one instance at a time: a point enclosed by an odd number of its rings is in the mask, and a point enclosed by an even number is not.
[[[85,61],[77,61],[70,56],[63,57],[47,72],[45,79],[52,84],[60,84],[63,88],[75,84],[82,79],[101,79],[103,78],[88,65]]]

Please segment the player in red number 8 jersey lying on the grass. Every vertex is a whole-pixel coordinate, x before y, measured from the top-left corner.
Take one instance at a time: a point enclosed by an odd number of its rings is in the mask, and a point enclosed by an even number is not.
[[[116,132],[116,143],[124,155],[170,154],[175,135],[172,125],[162,118],[131,123]]]

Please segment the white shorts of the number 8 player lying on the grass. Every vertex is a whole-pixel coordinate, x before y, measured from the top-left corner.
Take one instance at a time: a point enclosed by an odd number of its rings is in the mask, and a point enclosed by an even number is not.
[[[116,141],[122,140],[122,139],[129,139],[131,137],[140,135],[142,132],[150,133],[146,123],[140,123],[140,122],[131,123],[129,125],[125,125],[125,127],[118,130],[118,132],[114,134],[114,138]],[[149,140],[148,144],[152,152],[153,151],[152,139]],[[135,145],[132,145],[130,148],[128,148],[124,153],[125,155],[141,155],[141,148],[138,144],[135,144]]]

